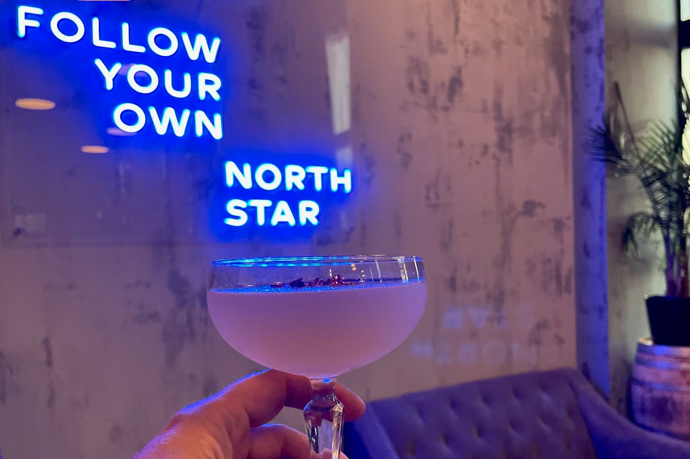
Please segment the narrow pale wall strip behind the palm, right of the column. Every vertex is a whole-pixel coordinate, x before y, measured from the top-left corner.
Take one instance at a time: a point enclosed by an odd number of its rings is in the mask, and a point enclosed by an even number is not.
[[[607,99],[620,84],[633,129],[649,121],[671,121],[676,97],[676,1],[613,0],[606,2]],[[626,409],[628,378],[638,338],[649,336],[645,295],[664,295],[660,266],[662,248],[648,244],[642,257],[621,248],[627,217],[647,204],[633,177],[610,177],[609,237],[609,353],[611,404]]]

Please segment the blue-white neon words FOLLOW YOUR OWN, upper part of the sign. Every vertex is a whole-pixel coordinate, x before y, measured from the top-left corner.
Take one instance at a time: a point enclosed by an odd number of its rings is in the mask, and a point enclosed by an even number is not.
[[[87,25],[90,30],[87,30]],[[106,37],[103,33],[104,24],[101,19],[92,17],[88,21],[72,12],[61,11],[50,17],[44,17],[42,8],[34,6],[17,7],[17,37],[28,40],[31,29],[46,28],[63,43],[77,43],[88,37],[92,46],[96,48],[122,50],[132,53],[141,59],[148,55],[158,57],[185,56],[189,61],[205,61],[215,64],[221,46],[221,39],[197,34],[194,37],[187,32],[179,35],[164,27],[152,28],[146,35],[146,43],[133,43],[130,24],[123,22],[118,28],[117,35]],[[112,31],[112,30],[111,30]],[[90,33],[88,33],[90,32]],[[213,72],[197,72],[193,77],[190,72],[173,72],[170,68],[156,70],[147,64],[133,64],[124,67],[121,62],[106,63],[101,58],[94,60],[95,70],[103,79],[106,91],[116,89],[116,81],[124,79],[132,93],[148,95],[163,94],[171,101],[221,101],[223,82]],[[207,110],[190,110],[190,108],[174,108],[172,106],[141,106],[133,101],[123,103],[112,109],[112,122],[125,133],[139,133],[150,125],[158,135],[175,135],[185,137],[210,136],[213,139],[223,138],[223,119],[221,113],[208,113]]]

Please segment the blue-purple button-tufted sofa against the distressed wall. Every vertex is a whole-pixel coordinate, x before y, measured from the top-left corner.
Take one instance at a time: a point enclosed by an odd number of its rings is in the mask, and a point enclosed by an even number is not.
[[[468,382],[367,404],[345,424],[350,459],[690,459],[636,427],[579,371]]]

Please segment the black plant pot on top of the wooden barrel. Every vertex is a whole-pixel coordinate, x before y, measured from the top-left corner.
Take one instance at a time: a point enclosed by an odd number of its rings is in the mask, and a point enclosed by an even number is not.
[[[647,318],[654,344],[690,346],[690,298],[647,298]]]

